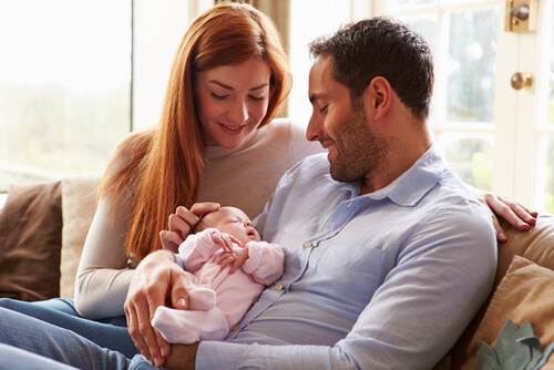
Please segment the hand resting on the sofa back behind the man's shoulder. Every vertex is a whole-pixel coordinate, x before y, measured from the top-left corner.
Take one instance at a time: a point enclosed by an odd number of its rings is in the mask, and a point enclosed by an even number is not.
[[[468,186],[479,202],[488,206],[492,212],[492,220],[496,229],[499,241],[506,241],[507,237],[500,226],[499,218],[504,218],[510,225],[519,230],[529,230],[536,223],[538,213],[531,210],[524,205],[512,201],[501,194],[494,194]]]

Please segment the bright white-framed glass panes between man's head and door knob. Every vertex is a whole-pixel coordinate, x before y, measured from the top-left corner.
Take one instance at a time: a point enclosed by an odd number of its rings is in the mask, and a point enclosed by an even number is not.
[[[391,14],[418,30],[434,54],[431,126],[449,166],[466,183],[492,188],[497,2],[382,1]]]

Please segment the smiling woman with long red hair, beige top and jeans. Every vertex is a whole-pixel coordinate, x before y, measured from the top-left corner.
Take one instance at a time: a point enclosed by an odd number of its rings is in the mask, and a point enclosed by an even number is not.
[[[158,233],[178,206],[218,202],[254,217],[280,175],[320,151],[289,122],[266,125],[289,90],[286,56],[269,19],[239,4],[199,16],[175,55],[160,123],[131,134],[112,154],[78,271],[75,308],[53,301],[72,315],[43,308],[47,304],[10,301],[10,308],[127,357],[137,353],[125,327],[83,320],[75,310],[95,320],[119,317],[124,325],[134,273],[129,267],[161,248]],[[505,207],[494,202],[493,208]]]

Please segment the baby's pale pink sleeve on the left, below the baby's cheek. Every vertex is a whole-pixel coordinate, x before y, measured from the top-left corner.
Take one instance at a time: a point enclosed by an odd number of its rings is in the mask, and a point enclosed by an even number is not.
[[[189,273],[198,270],[219,246],[212,240],[215,228],[206,228],[199,233],[188,235],[178,246],[178,254],[183,258],[183,267]]]

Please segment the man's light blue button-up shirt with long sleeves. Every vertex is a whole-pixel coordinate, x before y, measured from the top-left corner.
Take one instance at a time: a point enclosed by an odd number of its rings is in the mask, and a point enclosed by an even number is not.
[[[325,154],[283,176],[255,222],[285,273],[226,342],[199,346],[198,369],[429,369],[450,349],[494,278],[490,210],[434,147],[359,193]]]

